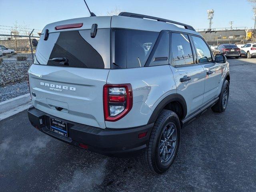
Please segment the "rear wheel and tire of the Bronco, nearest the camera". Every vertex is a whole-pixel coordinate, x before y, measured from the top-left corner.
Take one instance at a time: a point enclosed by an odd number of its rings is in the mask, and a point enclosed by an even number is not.
[[[180,120],[173,111],[162,110],[150,134],[148,146],[140,155],[140,162],[153,173],[164,173],[172,165],[179,145]]]

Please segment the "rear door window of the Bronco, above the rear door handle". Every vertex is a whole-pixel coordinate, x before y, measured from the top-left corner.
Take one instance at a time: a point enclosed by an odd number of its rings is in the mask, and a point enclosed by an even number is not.
[[[194,64],[188,35],[172,33],[172,66]]]

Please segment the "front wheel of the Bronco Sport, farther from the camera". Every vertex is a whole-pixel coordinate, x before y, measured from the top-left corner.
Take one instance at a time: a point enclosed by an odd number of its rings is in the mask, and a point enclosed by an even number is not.
[[[219,100],[214,106],[212,106],[212,111],[218,112],[218,113],[224,112],[228,104],[228,97],[229,97],[229,83],[228,83],[228,80],[225,80],[221,88]]]

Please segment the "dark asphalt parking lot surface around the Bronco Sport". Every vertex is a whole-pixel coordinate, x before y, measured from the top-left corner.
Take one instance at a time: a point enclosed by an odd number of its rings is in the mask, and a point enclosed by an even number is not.
[[[256,191],[256,58],[228,62],[226,111],[208,110],[182,129],[166,174],[55,140],[23,111],[0,121],[0,191]]]

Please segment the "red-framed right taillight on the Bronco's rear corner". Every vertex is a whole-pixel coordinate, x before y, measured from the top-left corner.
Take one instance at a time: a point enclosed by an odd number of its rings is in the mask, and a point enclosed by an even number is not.
[[[106,121],[117,121],[123,118],[132,109],[132,85],[104,85],[103,105]]]

